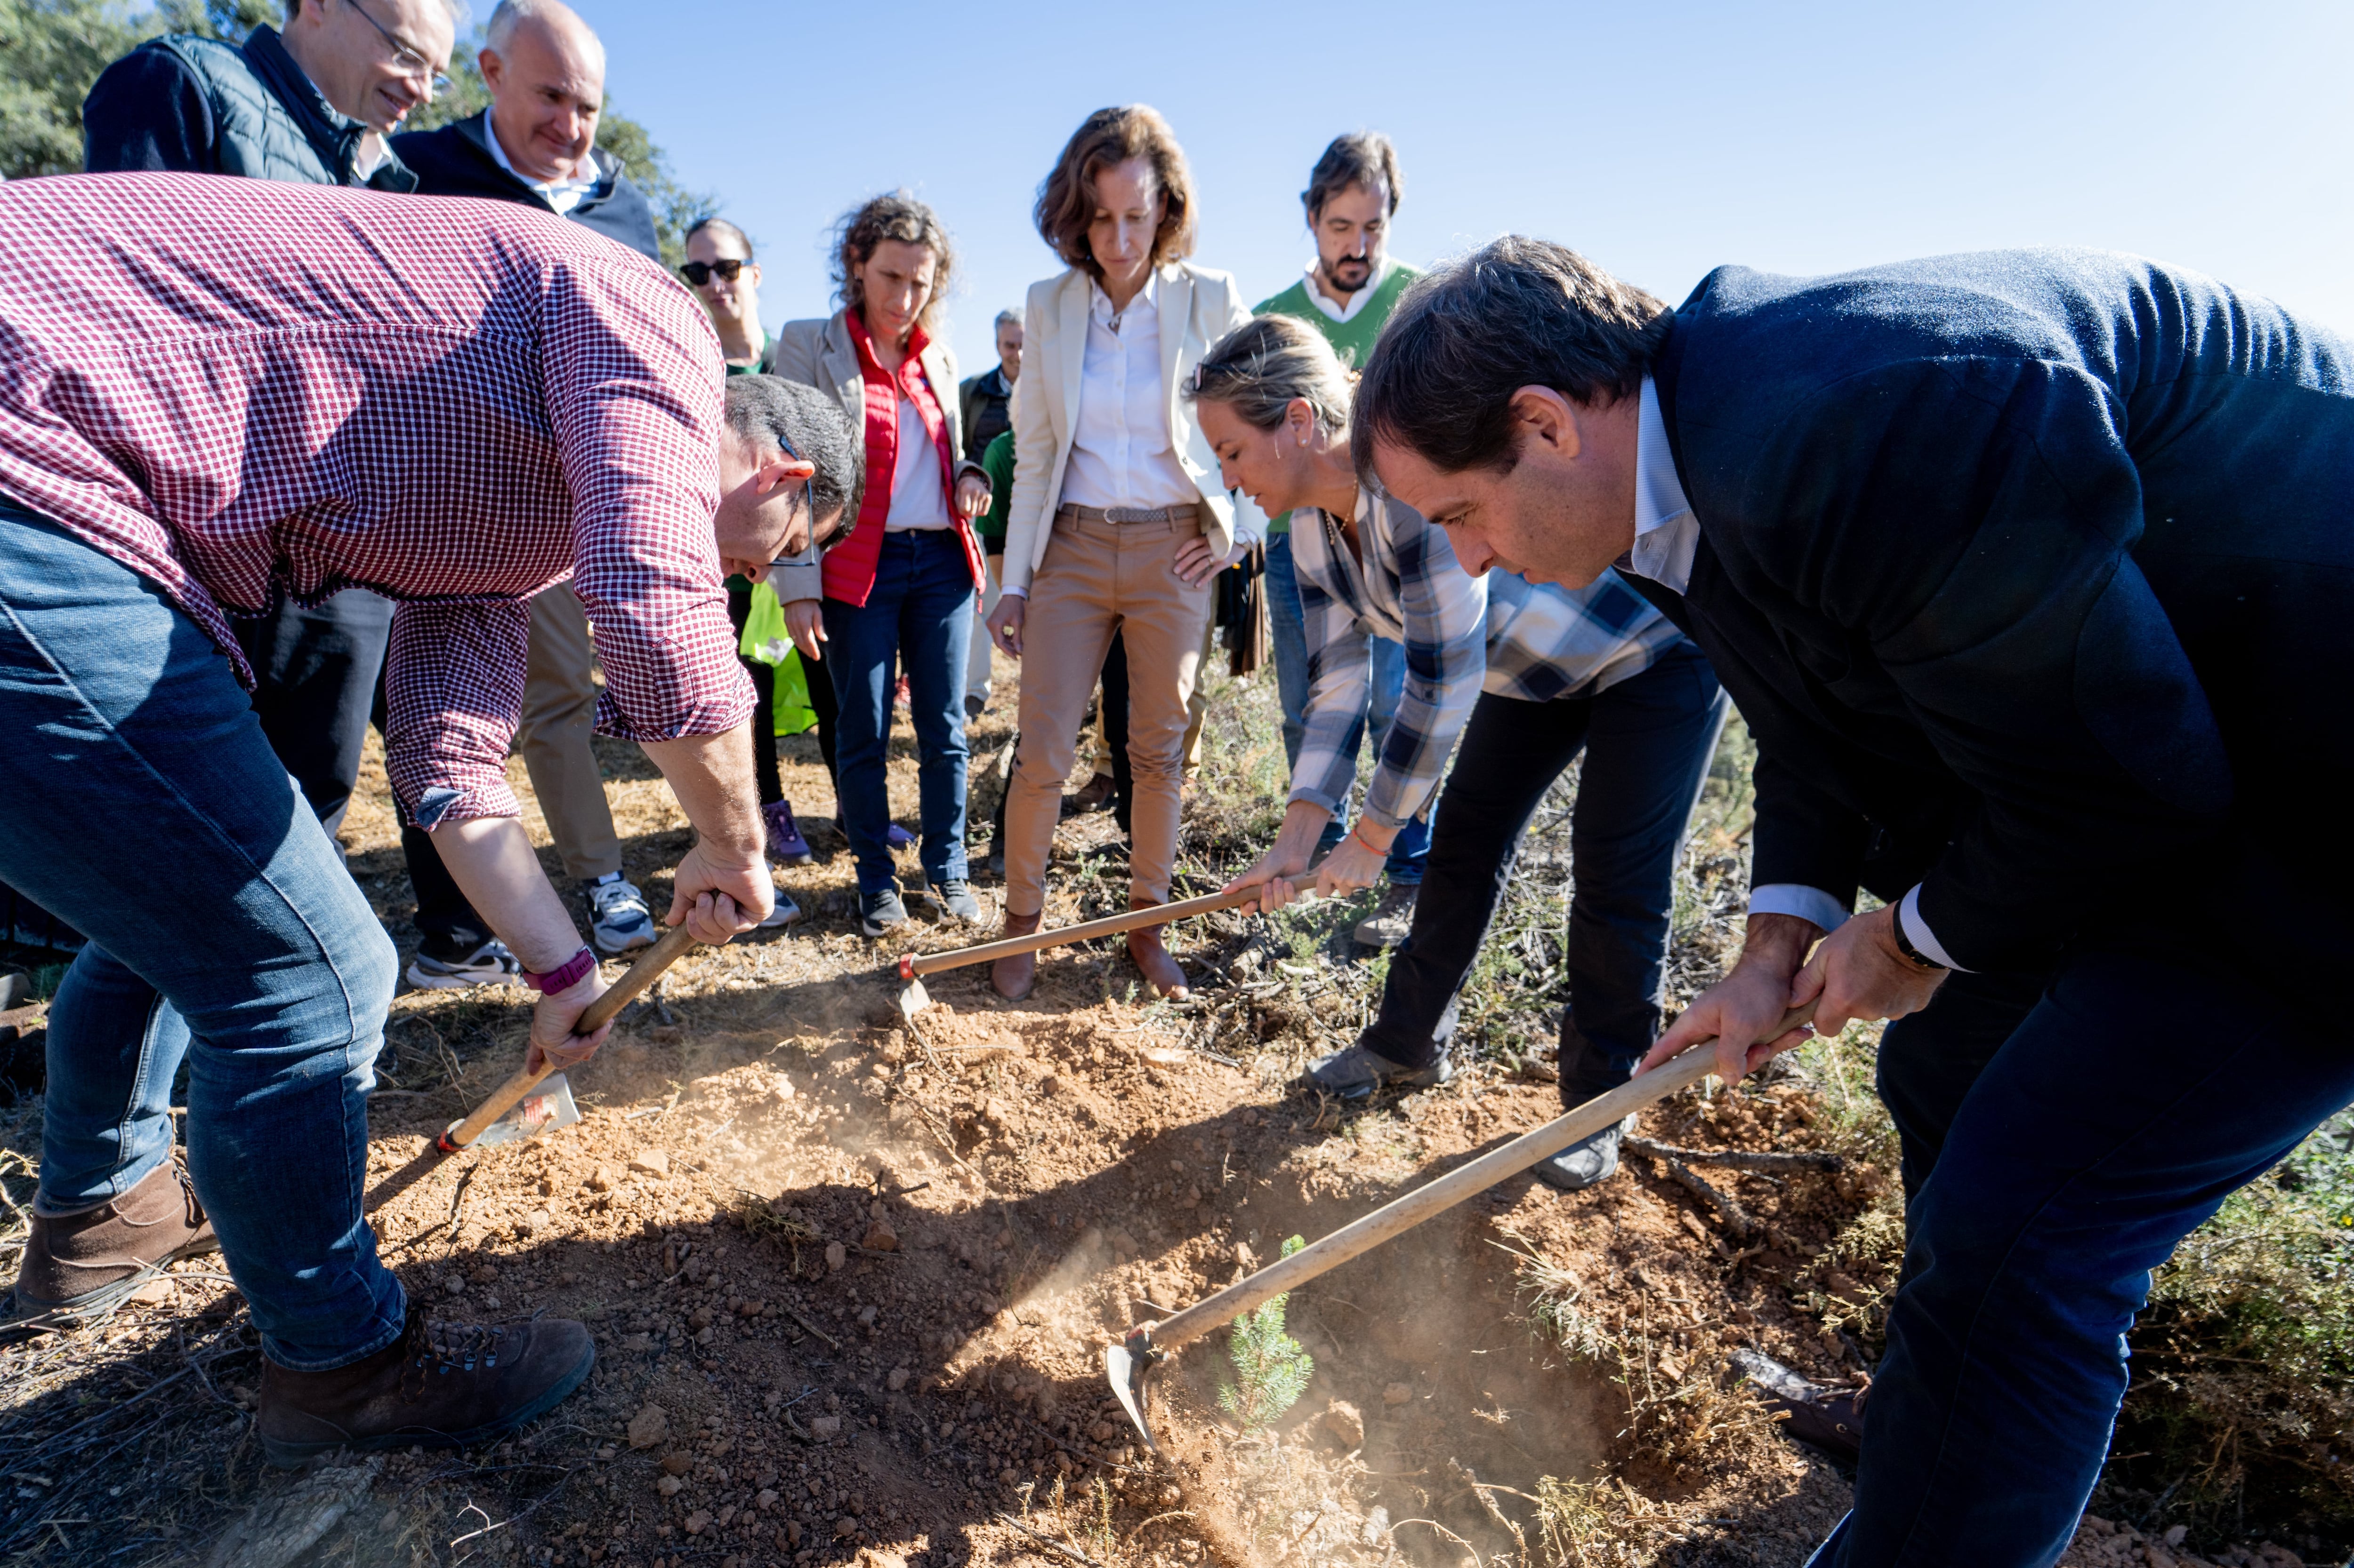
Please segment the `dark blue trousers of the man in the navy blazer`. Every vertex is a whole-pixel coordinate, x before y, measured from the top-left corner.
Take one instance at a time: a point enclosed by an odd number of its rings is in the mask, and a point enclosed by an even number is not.
[[[1916,1192],[1855,1512],[1817,1563],[2060,1559],[2149,1269],[2354,1100],[2345,1020],[2274,997],[2272,973],[2083,952],[2048,985],[1956,973],[1888,1025]]]

